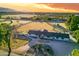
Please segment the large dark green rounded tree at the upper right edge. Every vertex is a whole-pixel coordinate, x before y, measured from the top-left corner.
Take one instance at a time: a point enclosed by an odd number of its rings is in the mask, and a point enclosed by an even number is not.
[[[67,24],[69,30],[71,30],[71,31],[75,31],[75,30],[79,29],[78,28],[79,16],[74,16],[74,15],[70,16],[69,19],[67,20],[66,24]]]

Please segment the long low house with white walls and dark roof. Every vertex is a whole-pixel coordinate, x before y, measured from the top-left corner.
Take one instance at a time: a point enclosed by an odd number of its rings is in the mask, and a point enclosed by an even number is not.
[[[56,33],[56,32],[48,32],[47,30],[44,31],[36,31],[36,30],[30,30],[28,32],[29,35],[36,35],[40,39],[45,40],[63,40],[63,41],[71,41],[69,34],[65,33]]]

